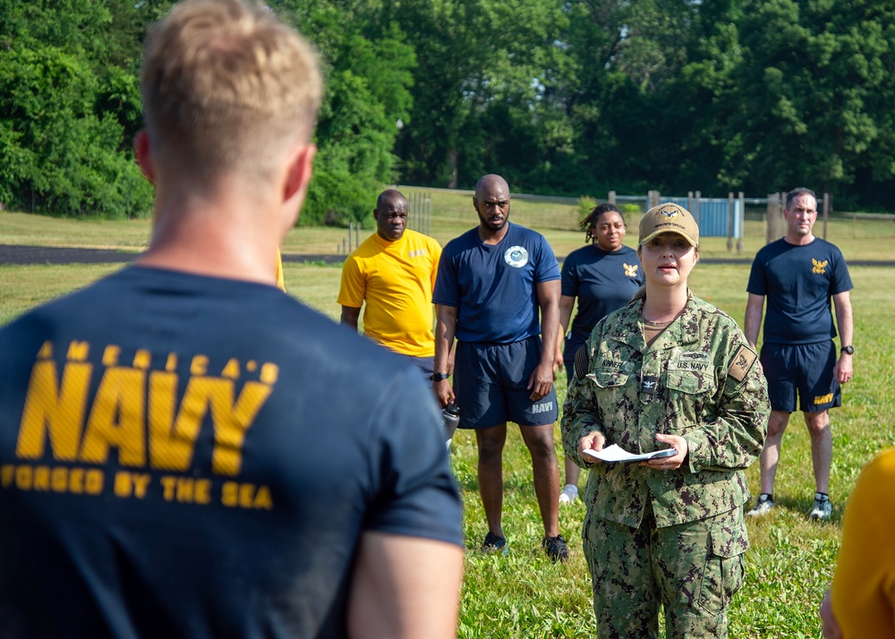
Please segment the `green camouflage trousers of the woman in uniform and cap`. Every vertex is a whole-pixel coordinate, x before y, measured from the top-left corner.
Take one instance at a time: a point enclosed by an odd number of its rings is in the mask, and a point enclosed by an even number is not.
[[[695,522],[639,528],[588,514],[582,537],[600,639],[727,637],[730,599],[743,582],[749,541],[742,507]]]

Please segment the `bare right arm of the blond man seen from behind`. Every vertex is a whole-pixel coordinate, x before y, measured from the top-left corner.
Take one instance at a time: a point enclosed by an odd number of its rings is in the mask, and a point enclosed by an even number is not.
[[[348,594],[352,639],[456,637],[463,550],[444,541],[364,533]]]

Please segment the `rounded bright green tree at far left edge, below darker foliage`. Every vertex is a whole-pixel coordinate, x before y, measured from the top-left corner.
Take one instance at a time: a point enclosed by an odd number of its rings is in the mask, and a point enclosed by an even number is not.
[[[0,52],[0,201],[64,215],[136,216],[151,189],[119,150],[114,115],[93,111],[98,80],[55,47]]]

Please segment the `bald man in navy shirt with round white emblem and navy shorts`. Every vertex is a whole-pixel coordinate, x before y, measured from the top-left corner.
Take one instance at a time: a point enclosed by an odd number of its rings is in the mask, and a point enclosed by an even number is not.
[[[499,175],[482,177],[473,197],[479,226],[451,240],[441,254],[433,295],[438,320],[432,389],[441,405],[460,407],[459,428],[475,430],[479,491],[488,519],[482,550],[507,550],[501,527],[502,453],[507,422],[516,422],[532,455],[544,524],[541,547],[553,561],[563,561],[568,549],[559,535],[553,446],[558,417],[553,381],[562,365],[553,348],[559,329],[559,265],[543,235],[510,224],[509,207],[507,181]],[[548,347],[542,347],[541,337]],[[455,338],[452,388],[448,354]]]

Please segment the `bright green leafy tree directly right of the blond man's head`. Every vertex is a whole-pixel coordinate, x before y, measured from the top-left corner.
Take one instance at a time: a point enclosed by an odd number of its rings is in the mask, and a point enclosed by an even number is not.
[[[326,96],[319,153],[300,224],[369,221],[395,179],[396,123],[410,119],[413,47],[375,2],[281,2],[277,10],[318,47]]]

